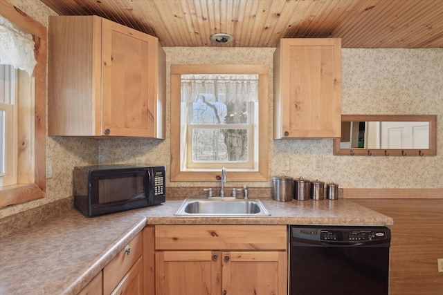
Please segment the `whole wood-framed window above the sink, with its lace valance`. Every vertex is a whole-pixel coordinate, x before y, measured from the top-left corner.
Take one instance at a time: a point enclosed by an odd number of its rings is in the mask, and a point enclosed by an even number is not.
[[[267,181],[268,66],[171,66],[171,180]]]

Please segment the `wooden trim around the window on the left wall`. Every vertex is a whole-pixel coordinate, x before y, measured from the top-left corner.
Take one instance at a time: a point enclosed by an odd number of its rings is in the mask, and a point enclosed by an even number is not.
[[[34,166],[27,167],[33,171],[30,179],[33,182],[13,184],[0,187],[0,208],[43,198],[46,191],[46,27],[19,8],[0,0],[0,15],[12,21],[17,26],[33,35],[35,41],[34,68],[35,96],[34,96],[34,141],[32,144],[35,157]],[[26,142],[23,142],[26,145]]]

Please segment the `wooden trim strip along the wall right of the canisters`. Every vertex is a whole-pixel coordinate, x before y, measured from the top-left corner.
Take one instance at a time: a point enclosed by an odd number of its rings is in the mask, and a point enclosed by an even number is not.
[[[348,199],[443,199],[443,189],[343,189]]]

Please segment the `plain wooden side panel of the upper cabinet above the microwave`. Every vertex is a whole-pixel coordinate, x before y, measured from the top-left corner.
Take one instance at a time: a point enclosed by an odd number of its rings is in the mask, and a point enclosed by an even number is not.
[[[100,17],[49,17],[48,135],[103,134],[101,32]]]

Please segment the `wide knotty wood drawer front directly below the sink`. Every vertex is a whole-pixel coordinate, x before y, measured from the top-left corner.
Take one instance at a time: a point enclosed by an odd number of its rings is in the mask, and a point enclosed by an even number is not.
[[[156,225],[156,250],[287,248],[286,225]]]

